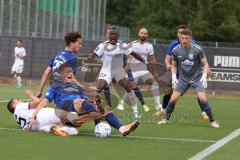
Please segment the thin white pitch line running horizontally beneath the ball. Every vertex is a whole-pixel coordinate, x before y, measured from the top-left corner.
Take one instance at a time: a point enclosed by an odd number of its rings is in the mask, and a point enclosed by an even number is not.
[[[0,128],[1,130],[6,131],[22,131],[21,129],[17,128]],[[94,135],[91,133],[79,133],[79,135]],[[111,135],[111,137],[120,137],[120,135]],[[147,139],[147,140],[167,140],[167,141],[183,141],[183,142],[200,142],[200,143],[214,143],[216,141],[213,140],[201,140],[201,139],[181,139],[181,138],[166,138],[166,137],[145,137],[145,136],[127,136],[128,138],[135,138],[135,139]]]

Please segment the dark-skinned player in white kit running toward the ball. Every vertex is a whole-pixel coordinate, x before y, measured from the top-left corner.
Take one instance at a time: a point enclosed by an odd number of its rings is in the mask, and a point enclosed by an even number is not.
[[[112,28],[109,31],[109,40],[98,45],[98,47],[89,56],[89,60],[94,61],[98,56],[102,57],[103,66],[97,81],[97,89],[102,91],[105,86],[111,83],[112,78],[127,91],[128,99],[134,110],[135,118],[139,118],[137,104],[130,81],[126,78],[126,71],[123,68],[123,55],[132,55],[140,61],[144,61],[141,56],[133,52],[127,44],[120,43],[118,31]]]

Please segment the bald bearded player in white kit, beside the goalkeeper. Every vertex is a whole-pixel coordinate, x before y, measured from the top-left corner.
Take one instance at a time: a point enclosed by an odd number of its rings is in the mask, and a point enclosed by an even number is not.
[[[132,50],[136,53],[139,53],[146,63],[149,57],[150,64],[153,64],[153,66],[155,67],[156,58],[154,56],[153,45],[146,41],[148,37],[148,30],[146,28],[140,28],[138,32],[138,37],[139,37],[138,40],[133,41],[131,43]],[[138,84],[139,80],[142,80],[145,84],[151,86],[151,91],[155,101],[155,108],[157,111],[161,110],[162,105],[160,103],[158,83],[155,80],[154,76],[148,71],[146,64],[138,61],[132,56],[129,56],[128,62],[130,63],[129,65],[133,74],[134,82]],[[158,76],[156,68],[154,68],[154,74],[155,77],[157,78]],[[118,107],[121,107],[123,105],[122,102],[124,101],[121,100],[121,103],[118,105]]]

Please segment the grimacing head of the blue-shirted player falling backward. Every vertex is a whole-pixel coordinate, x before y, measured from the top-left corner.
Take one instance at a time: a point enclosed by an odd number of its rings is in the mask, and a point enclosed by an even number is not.
[[[63,83],[71,83],[73,81],[73,70],[69,64],[62,64],[59,67],[59,73]]]

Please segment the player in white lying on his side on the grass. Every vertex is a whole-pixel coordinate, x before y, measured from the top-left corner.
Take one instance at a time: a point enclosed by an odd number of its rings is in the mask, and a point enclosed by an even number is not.
[[[25,90],[25,93],[32,99],[31,102],[12,99],[7,105],[8,110],[14,114],[15,120],[23,130],[52,132],[58,136],[78,134],[77,128],[62,124],[66,120],[73,121],[73,117],[76,117],[76,114],[53,108],[42,108],[36,117],[36,123],[30,130],[28,126],[30,119],[41,100],[34,96],[30,90]]]

